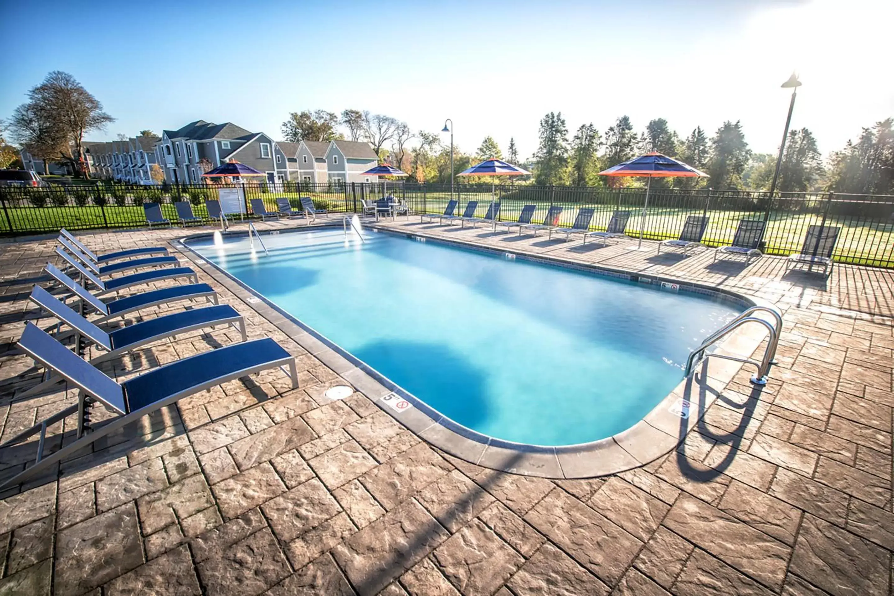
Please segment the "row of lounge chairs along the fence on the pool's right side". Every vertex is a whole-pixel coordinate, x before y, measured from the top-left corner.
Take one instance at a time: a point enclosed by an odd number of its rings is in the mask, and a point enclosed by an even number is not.
[[[549,239],[552,239],[552,234],[564,235],[566,241],[571,239],[573,235],[578,235],[583,239],[584,244],[586,244],[587,239],[596,239],[605,244],[610,240],[628,239],[625,231],[631,214],[629,211],[615,211],[611,215],[611,220],[605,231],[590,231],[590,223],[593,221],[595,214],[595,209],[592,207],[581,207],[578,209],[578,214],[570,227],[559,225],[562,206],[558,205],[550,206],[542,223],[533,223],[531,221],[536,211],[535,205],[523,206],[519,219],[515,222],[497,221],[500,213],[500,203],[496,201],[491,203],[483,218],[475,216],[478,208],[477,201],[469,201],[462,215],[453,214],[456,211],[456,207],[457,201],[453,199],[448,202],[443,214],[422,214],[420,222],[425,222],[426,219],[428,222],[436,221],[439,225],[444,223],[452,225],[452,222],[460,222],[460,226],[464,226],[467,222],[472,222],[473,226],[476,223],[484,222],[492,224],[493,231],[500,229],[508,233],[518,228],[519,236],[526,233],[536,236],[537,232],[546,231]],[[707,247],[704,246],[702,239],[704,232],[708,228],[708,221],[709,218],[706,215],[687,216],[679,238],[665,239],[659,242],[658,253],[660,254],[663,248],[665,251],[679,251],[684,256],[689,256],[690,251],[698,248],[706,249]],[[739,221],[732,243],[717,248],[713,254],[714,261],[718,257],[740,256],[745,258],[746,264],[750,264],[752,259],[763,256],[758,247],[763,239],[764,227],[765,222],[763,220],[743,219]],[[809,226],[801,251],[789,256],[786,271],[788,272],[794,266],[806,264],[810,267],[822,266],[823,273],[828,275],[831,272],[832,253],[838,241],[839,231],[840,228],[838,227]]]

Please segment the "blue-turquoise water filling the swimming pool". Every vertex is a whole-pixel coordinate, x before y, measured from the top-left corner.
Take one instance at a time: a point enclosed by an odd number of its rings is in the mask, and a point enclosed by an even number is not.
[[[682,379],[729,303],[386,233],[191,242],[444,416],[499,439],[595,441]]]

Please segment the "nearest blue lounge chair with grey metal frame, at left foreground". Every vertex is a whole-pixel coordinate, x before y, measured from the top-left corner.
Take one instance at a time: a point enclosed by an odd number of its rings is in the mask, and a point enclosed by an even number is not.
[[[295,358],[270,338],[246,341],[183,358],[139,374],[121,384],[97,370],[95,366],[84,362],[32,323],[26,325],[18,345],[36,362],[46,366],[47,370],[54,371],[64,381],[77,388],[78,403],[66,407],[0,445],[0,448],[5,448],[39,433],[35,463],[6,480],[0,485],[0,490],[16,486],[37,474],[46,472],[51,466],[67,457],[72,457],[81,449],[119,430],[125,424],[134,423],[142,416],[152,414],[179,399],[224,382],[287,365],[291,385],[293,388],[298,387]],[[96,402],[105,405],[117,417],[94,427],[90,420],[90,408]],[[45,457],[43,451],[46,429],[72,415],[76,415],[78,419],[76,440],[66,441],[62,449]]]

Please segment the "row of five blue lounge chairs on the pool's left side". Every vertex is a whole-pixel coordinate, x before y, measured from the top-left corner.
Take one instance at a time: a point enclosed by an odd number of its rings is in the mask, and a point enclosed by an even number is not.
[[[0,449],[5,449],[40,434],[34,463],[0,483],[0,490],[49,471],[50,466],[72,457],[94,441],[125,424],[133,423],[141,416],[215,385],[272,368],[288,367],[292,387],[298,387],[295,358],[270,338],[249,341],[242,315],[232,306],[220,304],[215,290],[207,283],[198,283],[196,273],[189,267],[179,266],[176,257],[168,255],[166,248],[132,248],[97,255],[68,231],[60,231],[58,241],[60,247],[56,248],[56,254],[62,259],[62,268],[47,263],[45,271],[55,281],[59,291],[54,294],[35,285],[30,294],[31,302],[57,321],[49,328],[49,331],[55,330],[55,337],[34,323],[27,323],[18,342],[19,348],[46,369],[46,374],[42,382],[15,394],[14,399],[26,399],[67,388],[78,390],[78,401],[0,445]],[[112,277],[113,274],[137,269],[141,271]],[[106,279],[102,280],[104,277]],[[184,277],[190,278],[192,283],[137,292],[107,301],[100,299],[109,292]],[[67,304],[71,299],[77,302],[75,308]],[[116,328],[107,326],[114,319],[140,309],[196,299],[204,299],[207,306],[184,309]],[[240,341],[158,365],[120,383],[96,367],[100,362],[156,341],[218,325],[238,328]],[[68,346],[66,342],[71,340],[72,335],[74,340]],[[89,360],[80,355],[84,344],[92,346],[93,357]],[[116,416],[93,427],[90,424],[90,407],[97,402]],[[61,449],[45,456],[47,427],[72,415],[77,416],[75,440],[66,441]],[[0,451],[0,457],[3,453]]]

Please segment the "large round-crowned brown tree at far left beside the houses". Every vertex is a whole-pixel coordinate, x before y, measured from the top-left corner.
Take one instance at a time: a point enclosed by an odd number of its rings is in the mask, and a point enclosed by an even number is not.
[[[20,112],[21,110],[21,112]],[[24,116],[31,122],[22,122]],[[104,130],[114,118],[103,112],[103,105],[90,95],[71,74],[52,71],[37,87],[28,92],[28,103],[13,113],[13,130],[22,145],[34,146],[45,160],[61,158],[72,164],[77,172],[89,178],[84,161],[84,135],[92,130]],[[36,138],[31,138],[37,132]],[[49,155],[49,149],[57,155]]]

